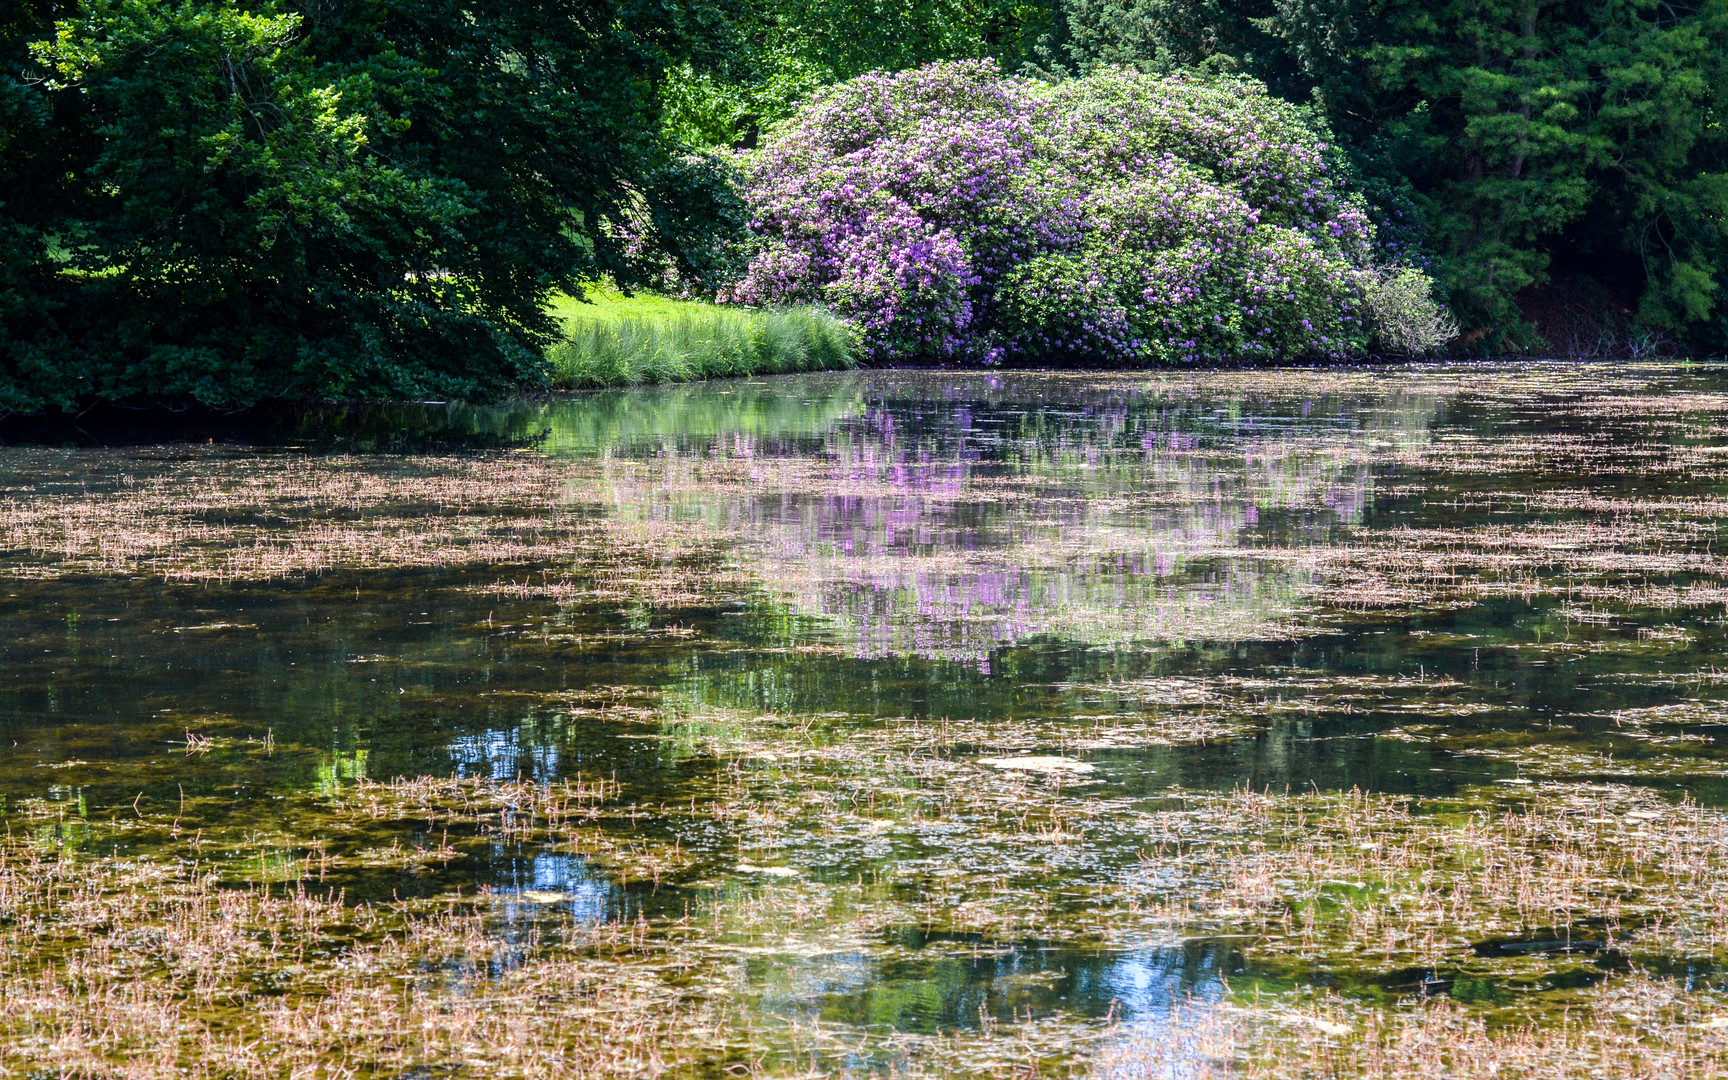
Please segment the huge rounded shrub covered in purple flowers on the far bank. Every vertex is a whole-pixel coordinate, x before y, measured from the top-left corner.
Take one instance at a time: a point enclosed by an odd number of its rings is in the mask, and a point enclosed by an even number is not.
[[[990,60],[867,74],[743,168],[755,249],[722,299],[828,304],[874,358],[1367,346],[1367,207],[1253,81],[1102,69],[1051,86]]]

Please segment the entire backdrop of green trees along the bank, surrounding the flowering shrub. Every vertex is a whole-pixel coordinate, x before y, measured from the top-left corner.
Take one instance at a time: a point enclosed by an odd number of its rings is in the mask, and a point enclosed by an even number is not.
[[[0,413],[541,384],[551,292],[736,276],[691,147],[966,57],[1263,81],[1471,349],[1728,347],[1728,0],[0,0]]]

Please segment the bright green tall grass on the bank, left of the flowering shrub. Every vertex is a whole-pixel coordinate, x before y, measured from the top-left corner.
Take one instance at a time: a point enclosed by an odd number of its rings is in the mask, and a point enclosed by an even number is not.
[[[546,354],[558,389],[828,372],[857,363],[852,328],[821,308],[721,308],[598,290],[589,301],[553,308],[565,323],[565,340]]]

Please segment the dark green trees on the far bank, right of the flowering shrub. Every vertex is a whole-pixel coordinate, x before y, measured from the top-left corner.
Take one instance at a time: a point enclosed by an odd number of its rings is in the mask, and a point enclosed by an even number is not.
[[[1061,0],[1039,60],[1313,102],[1382,216],[1420,209],[1479,347],[1533,342],[1517,295],[1555,273],[1640,295],[1649,328],[1728,325],[1728,0]]]

